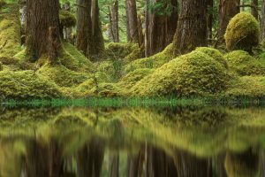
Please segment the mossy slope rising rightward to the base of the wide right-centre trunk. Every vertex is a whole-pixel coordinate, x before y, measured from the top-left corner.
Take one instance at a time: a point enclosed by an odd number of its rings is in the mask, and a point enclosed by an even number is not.
[[[139,68],[157,68],[173,59],[173,44],[168,45],[162,52],[149,58],[136,59],[125,65],[125,71],[128,73]]]

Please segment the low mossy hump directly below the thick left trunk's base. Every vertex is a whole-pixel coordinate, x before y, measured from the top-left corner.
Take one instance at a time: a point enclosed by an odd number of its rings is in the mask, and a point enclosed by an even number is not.
[[[67,69],[64,65],[43,65],[38,72],[47,80],[54,81],[60,87],[77,86],[91,77],[89,73],[78,73]]]

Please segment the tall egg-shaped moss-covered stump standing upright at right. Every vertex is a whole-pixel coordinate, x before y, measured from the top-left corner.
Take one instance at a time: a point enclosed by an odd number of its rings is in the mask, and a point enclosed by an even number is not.
[[[248,12],[241,12],[231,19],[224,35],[228,50],[251,51],[259,44],[260,25]]]

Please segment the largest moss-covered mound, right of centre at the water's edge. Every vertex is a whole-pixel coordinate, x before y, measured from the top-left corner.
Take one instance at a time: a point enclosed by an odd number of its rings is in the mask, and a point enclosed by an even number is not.
[[[229,80],[216,59],[193,51],[156,69],[130,91],[136,96],[207,96],[225,90]]]

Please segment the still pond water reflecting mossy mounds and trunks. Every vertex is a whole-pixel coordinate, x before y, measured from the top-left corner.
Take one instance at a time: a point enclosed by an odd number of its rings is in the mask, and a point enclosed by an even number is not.
[[[1,177],[265,175],[265,108],[1,108]]]

